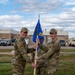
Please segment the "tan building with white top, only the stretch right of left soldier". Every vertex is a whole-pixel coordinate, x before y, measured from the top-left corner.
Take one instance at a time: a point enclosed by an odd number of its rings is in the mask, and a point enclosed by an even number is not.
[[[63,30],[57,30],[57,38],[58,40],[65,40],[66,42],[68,41],[68,32],[63,31]],[[44,44],[48,43],[51,41],[51,38],[49,37],[49,31],[44,30],[43,31],[43,35],[44,35]],[[28,32],[28,38],[29,38],[29,43],[30,44],[34,44],[32,41],[32,36],[33,36],[33,31],[29,31]]]

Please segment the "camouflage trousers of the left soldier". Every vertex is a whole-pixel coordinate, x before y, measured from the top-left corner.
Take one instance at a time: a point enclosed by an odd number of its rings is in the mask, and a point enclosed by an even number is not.
[[[13,75],[24,75],[24,69],[25,69],[26,61],[21,60],[13,62]]]

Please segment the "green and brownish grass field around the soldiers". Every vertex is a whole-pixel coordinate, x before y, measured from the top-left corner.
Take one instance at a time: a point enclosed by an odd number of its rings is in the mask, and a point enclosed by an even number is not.
[[[61,52],[75,52],[74,49],[63,49]],[[12,56],[0,55],[0,75],[12,75]],[[27,64],[25,75],[33,75],[32,67]],[[60,55],[57,75],[75,75],[75,54]]]

